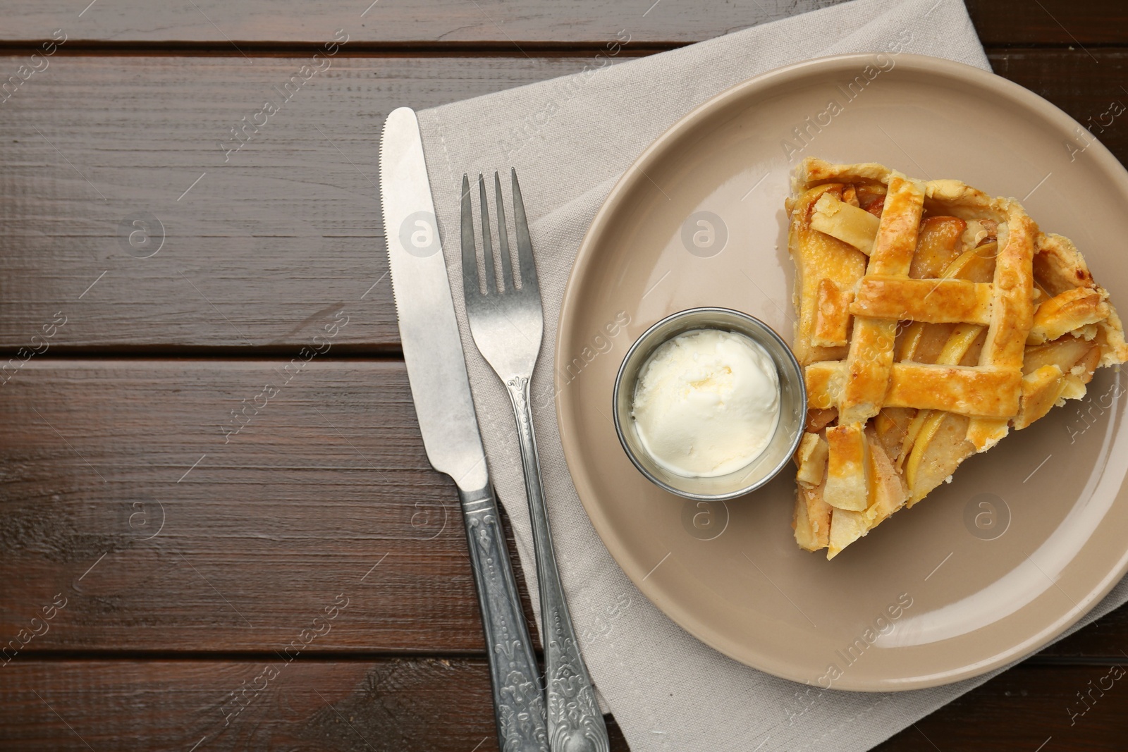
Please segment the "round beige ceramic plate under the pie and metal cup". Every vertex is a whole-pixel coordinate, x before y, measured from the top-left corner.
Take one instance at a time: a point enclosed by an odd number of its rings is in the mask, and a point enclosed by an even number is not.
[[[1128,568],[1118,373],[1099,371],[1083,401],[969,459],[950,485],[834,561],[795,546],[793,474],[726,504],[682,501],[643,478],[615,435],[619,362],[662,317],[734,308],[790,342],[783,200],[809,154],[1015,196],[1045,230],[1077,244],[1128,312],[1128,175],[1064,113],[1002,78],[931,57],[793,65],[673,126],[592,223],[556,345],[558,364],[582,364],[557,375],[567,463],[627,575],[717,651],[837,689],[980,674],[1060,634]],[[611,350],[592,359],[591,343],[626,317]]]

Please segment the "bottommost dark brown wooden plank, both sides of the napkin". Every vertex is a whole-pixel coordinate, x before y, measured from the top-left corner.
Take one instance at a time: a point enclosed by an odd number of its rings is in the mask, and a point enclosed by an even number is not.
[[[12,749],[497,749],[482,660],[17,660],[0,671],[0,740]],[[1122,750],[1123,671],[1015,669],[875,749]],[[614,726],[613,738],[627,749]]]

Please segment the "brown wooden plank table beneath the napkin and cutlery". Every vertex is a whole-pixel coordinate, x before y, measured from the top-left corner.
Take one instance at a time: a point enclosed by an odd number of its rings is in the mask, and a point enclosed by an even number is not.
[[[382,118],[828,0],[87,1],[0,26],[3,747],[495,750]],[[1123,3],[970,9],[996,72],[1128,156]],[[1126,638],[1120,609],[878,749],[1123,749]]]

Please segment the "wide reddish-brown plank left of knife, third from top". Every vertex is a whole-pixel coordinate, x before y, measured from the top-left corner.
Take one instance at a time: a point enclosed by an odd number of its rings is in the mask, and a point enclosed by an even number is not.
[[[402,362],[38,359],[0,390],[6,657],[481,653]]]

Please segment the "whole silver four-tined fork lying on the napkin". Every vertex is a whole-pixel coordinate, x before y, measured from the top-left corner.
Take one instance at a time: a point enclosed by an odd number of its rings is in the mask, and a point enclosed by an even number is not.
[[[525,215],[525,203],[521,201],[521,186],[517,183],[517,170],[512,170],[512,176],[519,263],[517,269],[512,268],[509,253],[501,178],[494,172],[499,246],[496,264],[501,267],[502,274],[502,285],[499,286],[494,274],[486,185],[482,175],[478,175],[485,293],[482,292],[478,282],[470,183],[466,175],[462,176],[462,291],[466,294],[466,316],[470,322],[474,343],[505,384],[517,418],[521,462],[525,466],[525,490],[529,496],[529,513],[532,517],[537,580],[540,583],[540,623],[545,631],[545,685],[548,693],[548,740],[553,752],[607,752],[609,749],[607,728],[596,701],[591,678],[580,655],[572,617],[564,600],[564,589],[561,585],[556,556],[553,551],[553,537],[548,529],[545,489],[540,483],[540,460],[537,455],[537,437],[532,431],[529,380],[537,362],[537,353],[540,352],[545,320],[540,306],[540,285],[537,283],[537,266],[532,259],[532,242],[529,239],[529,223]],[[520,281],[520,287],[513,284],[514,277]]]

